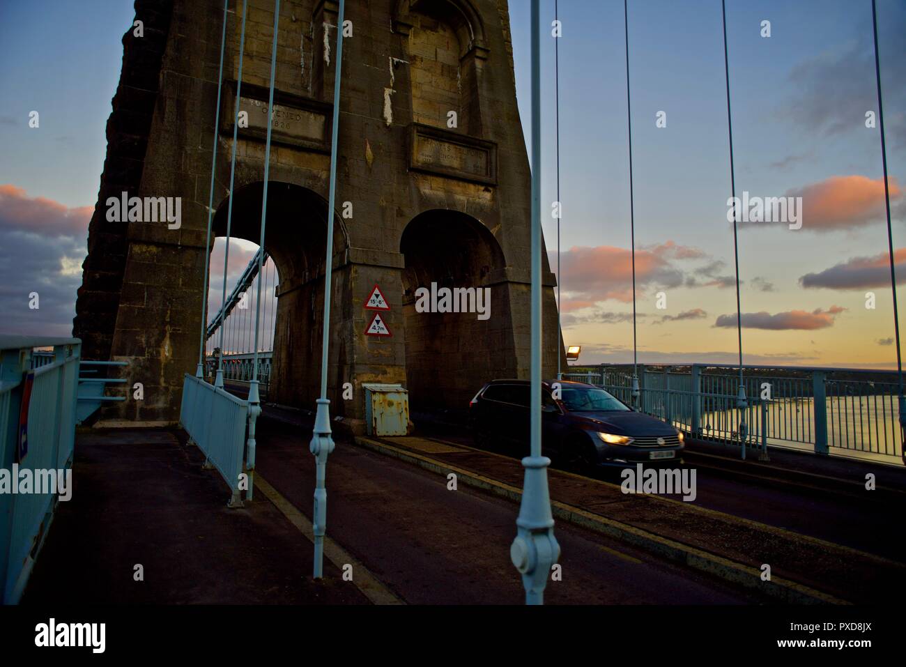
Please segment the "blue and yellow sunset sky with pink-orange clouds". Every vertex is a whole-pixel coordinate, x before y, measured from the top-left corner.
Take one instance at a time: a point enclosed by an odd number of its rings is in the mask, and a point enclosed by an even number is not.
[[[804,206],[801,229],[739,228],[744,360],[890,367],[880,132],[865,127],[866,111],[877,111],[872,4],[727,4],[737,195],[802,197]],[[629,5],[640,360],[735,362],[720,2]],[[559,10],[564,341],[583,345],[583,362],[626,362],[632,332],[623,4],[561,0]],[[527,129],[528,3],[511,0],[510,11]],[[543,199],[555,268],[554,3],[543,3],[543,12]],[[903,280],[906,4],[878,0],[878,12],[893,240]],[[130,0],[0,3],[0,330],[71,332],[120,38],[133,14]],[[763,20],[771,22],[768,38],[760,35]],[[27,126],[32,110],[41,113],[40,129]],[[659,111],[665,128],[655,125]],[[251,252],[231,252],[232,273]],[[27,309],[33,290],[42,295],[40,311]],[[663,310],[655,307],[659,292]],[[866,292],[876,295],[874,309],[865,307]]]

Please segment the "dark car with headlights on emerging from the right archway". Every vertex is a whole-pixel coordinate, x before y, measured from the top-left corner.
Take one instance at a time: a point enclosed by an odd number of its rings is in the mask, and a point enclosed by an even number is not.
[[[559,382],[559,398],[554,398]],[[469,424],[477,443],[516,444],[528,450],[527,380],[487,382],[469,402]],[[683,435],[670,424],[633,411],[592,384],[542,382],[542,450],[566,464],[625,466],[679,463]]]

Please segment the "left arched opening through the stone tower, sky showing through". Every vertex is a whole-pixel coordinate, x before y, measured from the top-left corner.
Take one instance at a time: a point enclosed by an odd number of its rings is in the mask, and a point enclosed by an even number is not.
[[[244,266],[247,265],[247,258],[254,255],[261,238],[263,197],[263,182],[236,189],[230,237],[239,239],[235,241],[236,250],[245,248],[242,253],[246,259]],[[226,236],[228,204],[229,198],[226,198],[217,208],[212,224],[214,236]],[[269,324],[272,327],[270,350],[262,350],[272,353],[267,400],[295,407],[311,407],[317,398],[321,372],[327,204],[312,190],[271,181],[267,187],[266,216],[265,251],[274,265],[273,275],[268,276],[265,272],[265,281],[272,281],[270,289],[273,290],[274,303],[268,303],[264,296],[262,298],[263,308],[274,309]],[[339,216],[334,215],[333,228],[333,252],[336,254],[348,247],[346,230]],[[234,241],[231,241],[230,270],[236,275],[242,272],[244,266],[234,266],[233,244]],[[220,270],[223,270],[222,260]],[[217,295],[217,308],[221,303],[222,281],[222,273],[212,273],[211,285]],[[227,297],[234,285],[235,280],[231,282],[227,279]],[[248,304],[249,314],[254,318],[254,299],[250,298]],[[216,312],[211,312],[208,321]],[[241,317],[242,312],[237,312],[237,315]],[[247,340],[254,333],[254,324],[250,327],[246,324],[246,330],[244,335]],[[259,336],[264,336],[266,341],[267,333],[262,330]],[[241,347],[244,350],[247,348],[249,353],[254,352],[247,343]]]

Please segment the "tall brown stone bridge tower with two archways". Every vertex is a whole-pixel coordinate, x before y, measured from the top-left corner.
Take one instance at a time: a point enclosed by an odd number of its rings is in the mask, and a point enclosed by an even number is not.
[[[229,156],[242,2],[226,26],[213,237],[226,234]],[[74,334],[87,358],[130,362],[144,400],[105,420],[178,420],[194,372],[221,0],[137,0],[123,37],[120,86],[89,231]],[[234,237],[259,240],[273,0],[249,0],[238,129]],[[348,0],[343,43],[329,384],[332,413],[354,430],[362,382],[400,382],[413,411],[466,408],[483,382],[529,364],[530,177],[506,0]],[[323,315],[323,252],[337,5],[283,0],[265,248],[279,272],[268,401],[313,409]],[[109,222],[122,192],[181,198],[181,226]],[[351,203],[352,217],[341,216]],[[416,290],[487,287],[490,316],[422,313]],[[544,258],[545,376],[554,375],[554,275]],[[217,283],[215,283],[216,285]],[[390,337],[364,335],[374,285],[390,304]],[[354,400],[342,400],[352,382]]]

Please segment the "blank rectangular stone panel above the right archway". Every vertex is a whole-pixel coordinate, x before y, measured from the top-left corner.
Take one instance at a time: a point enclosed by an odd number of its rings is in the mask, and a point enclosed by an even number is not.
[[[496,144],[413,124],[410,169],[496,183]]]

